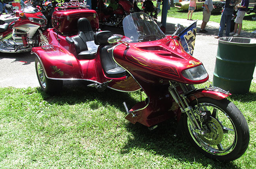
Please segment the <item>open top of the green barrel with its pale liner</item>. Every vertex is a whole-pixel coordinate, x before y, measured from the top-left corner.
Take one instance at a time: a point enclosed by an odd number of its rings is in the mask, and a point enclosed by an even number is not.
[[[256,46],[256,39],[241,38],[241,37],[222,37],[218,39],[219,43],[231,44],[237,46],[254,47]]]

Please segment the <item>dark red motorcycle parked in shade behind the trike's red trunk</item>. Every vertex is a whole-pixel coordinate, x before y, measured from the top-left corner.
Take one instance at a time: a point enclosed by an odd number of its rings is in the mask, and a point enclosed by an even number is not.
[[[104,7],[104,2],[99,0],[96,10],[100,24],[115,27],[122,27],[124,17],[134,11],[133,4],[128,0],[118,0],[118,8],[112,13],[108,13]]]

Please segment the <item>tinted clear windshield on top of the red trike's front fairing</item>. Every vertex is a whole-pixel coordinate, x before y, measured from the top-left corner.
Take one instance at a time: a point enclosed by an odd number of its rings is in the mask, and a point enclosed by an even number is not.
[[[123,27],[128,42],[147,42],[166,37],[151,16],[142,12],[126,16]]]

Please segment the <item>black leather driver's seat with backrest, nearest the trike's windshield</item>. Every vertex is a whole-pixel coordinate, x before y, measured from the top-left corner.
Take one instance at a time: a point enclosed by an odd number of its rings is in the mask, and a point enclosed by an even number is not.
[[[112,58],[112,52],[108,52],[110,46],[107,42],[109,37],[113,36],[111,31],[101,31],[96,32],[94,35],[95,44],[99,44],[100,46],[100,59],[102,62],[102,67],[104,73],[107,77],[123,77],[126,75],[126,71],[121,68]]]

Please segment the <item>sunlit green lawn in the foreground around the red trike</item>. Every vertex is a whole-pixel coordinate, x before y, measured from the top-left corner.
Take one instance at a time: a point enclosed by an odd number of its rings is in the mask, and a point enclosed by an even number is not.
[[[201,85],[205,86],[205,85]],[[256,84],[230,99],[250,129],[245,154],[229,163],[205,158],[168,120],[150,132],[123,118],[139,92],[70,87],[58,96],[39,88],[0,88],[0,168],[256,168]]]

